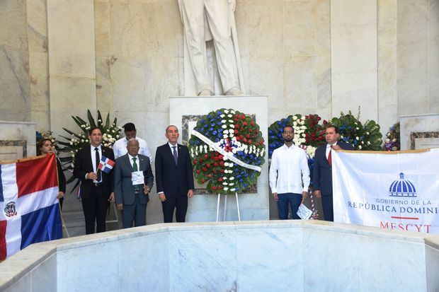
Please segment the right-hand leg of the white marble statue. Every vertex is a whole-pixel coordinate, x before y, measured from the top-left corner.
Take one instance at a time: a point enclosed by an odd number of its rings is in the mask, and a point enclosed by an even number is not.
[[[229,23],[229,2],[227,0],[205,0],[207,21],[213,36],[218,71],[224,92],[239,88],[236,57]]]

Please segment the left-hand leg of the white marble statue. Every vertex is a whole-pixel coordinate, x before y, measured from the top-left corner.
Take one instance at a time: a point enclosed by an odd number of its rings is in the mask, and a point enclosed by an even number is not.
[[[204,0],[183,0],[180,10],[183,16],[183,28],[190,63],[195,76],[197,93],[203,90],[212,91],[209,81],[209,69],[206,59],[206,44],[204,36]]]

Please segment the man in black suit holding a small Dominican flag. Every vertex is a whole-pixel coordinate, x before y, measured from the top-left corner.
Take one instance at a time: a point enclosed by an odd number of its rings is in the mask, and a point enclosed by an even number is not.
[[[81,181],[82,209],[86,219],[86,234],[105,232],[108,202],[114,202],[113,170],[110,173],[98,171],[102,156],[114,161],[113,150],[101,145],[102,130],[89,130],[90,146],[81,148],[76,154],[73,175]]]

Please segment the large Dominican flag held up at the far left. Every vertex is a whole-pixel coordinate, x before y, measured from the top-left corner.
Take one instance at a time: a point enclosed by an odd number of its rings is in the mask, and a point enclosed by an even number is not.
[[[0,260],[62,238],[55,155],[0,165]]]

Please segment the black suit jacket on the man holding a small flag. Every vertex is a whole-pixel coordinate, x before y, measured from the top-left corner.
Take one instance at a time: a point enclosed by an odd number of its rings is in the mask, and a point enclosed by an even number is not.
[[[111,148],[106,146],[101,146],[102,156],[106,158],[114,159],[114,153]],[[99,163],[99,162],[97,162]],[[96,170],[93,169],[93,163],[91,162],[91,151],[90,146],[86,146],[81,148],[81,150],[76,153],[76,159],[74,161],[74,170],[73,175],[81,181],[81,189],[79,194],[81,198],[88,198],[91,193],[91,186],[93,185],[93,180],[86,180],[87,173],[94,173]],[[103,186],[103,194],[110,197],[111,192],[113,192],[113,170],[110,173],[102,174],[102,186]]]

